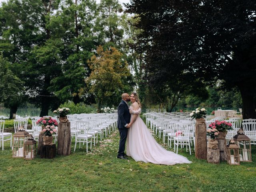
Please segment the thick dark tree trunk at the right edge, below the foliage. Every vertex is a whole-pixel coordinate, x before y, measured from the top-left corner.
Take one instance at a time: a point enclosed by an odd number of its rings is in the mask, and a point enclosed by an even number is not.
[[[253,91],[251,90],[252,88],[248,86],[239,86],[239,89],[242,96],[243,119],[256,119],[254,94]]]

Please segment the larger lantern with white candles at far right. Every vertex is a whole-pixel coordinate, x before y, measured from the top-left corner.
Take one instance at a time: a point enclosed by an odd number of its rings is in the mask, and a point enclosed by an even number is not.
[[[237,133],[238,134],[234,136],[234,141],[239,147],[240,162],[252,162],[252,149],[250,138],[248,138],[248,136],[244,134],[242,128],[240,128]]]

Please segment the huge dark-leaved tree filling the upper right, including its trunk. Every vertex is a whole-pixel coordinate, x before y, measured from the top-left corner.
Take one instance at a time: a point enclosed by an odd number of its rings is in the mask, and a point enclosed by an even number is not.
[[[131,0],[127,7],[140,16],[137,39],[151,82],[184,73],[188,81],[224,80],[223,88],[240,90],[243,118],[256,118],[254,0]]]

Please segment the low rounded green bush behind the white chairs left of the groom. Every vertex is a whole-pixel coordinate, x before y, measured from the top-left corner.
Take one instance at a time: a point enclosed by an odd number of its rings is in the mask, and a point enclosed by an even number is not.
[[[65,102],[60,105],[60,108],[62,107],[69,108],[70,114],[95,113],[97,110],[94,106],[86,105],[84,103],[74,104],[74,102]]]

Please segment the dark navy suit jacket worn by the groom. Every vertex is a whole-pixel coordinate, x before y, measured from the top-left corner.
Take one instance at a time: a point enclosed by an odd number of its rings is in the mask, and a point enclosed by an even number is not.
[[[125,101],[121,101],[117,108],[118,118],[117,127],[118,129],[127,129],[126,124],[130,123],[131,114]]]

